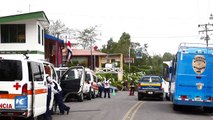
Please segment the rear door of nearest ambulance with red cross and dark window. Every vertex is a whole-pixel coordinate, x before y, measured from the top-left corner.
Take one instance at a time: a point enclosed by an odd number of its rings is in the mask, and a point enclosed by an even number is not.
[[[15,100],[22,97],[23,64],[20,60],[0,59],[0,115],[9,116],[19,110]],[[24,98],[24,97],[23,97]],[[26,97],[25,97],[26,98]],[[22,103],[26,103],[23,102]],[[22,109],[27,109],[22,104]],[[13,114],[11,114],[13,116]]]

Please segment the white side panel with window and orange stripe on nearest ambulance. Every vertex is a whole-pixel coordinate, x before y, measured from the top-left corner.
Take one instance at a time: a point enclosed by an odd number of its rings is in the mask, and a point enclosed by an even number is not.
[[[39,116],[46,112],[47,82],[44,78],[44,66],[40,62],[29,62],[29,79],[32,81],[33,115]]]

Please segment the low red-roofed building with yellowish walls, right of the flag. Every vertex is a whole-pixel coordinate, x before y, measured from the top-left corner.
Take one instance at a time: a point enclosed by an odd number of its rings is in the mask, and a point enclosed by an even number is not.
[[[72,62],[75,65],[92,68],[95,73],[116,74],[118,80],[123,80],[123,54],[106,54],[96,50],[91,54],[91,50],[85,49],[72,49],[72,51]]]

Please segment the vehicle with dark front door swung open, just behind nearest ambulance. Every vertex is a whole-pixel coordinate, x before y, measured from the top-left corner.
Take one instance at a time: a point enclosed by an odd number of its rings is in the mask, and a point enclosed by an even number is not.
[[[80,102],[84,98],[91,100],[92,87],[86,78],[86,71],[83,66],[70,67],[60,78],[60,85],[64,101],[70,98],[77,98]]]

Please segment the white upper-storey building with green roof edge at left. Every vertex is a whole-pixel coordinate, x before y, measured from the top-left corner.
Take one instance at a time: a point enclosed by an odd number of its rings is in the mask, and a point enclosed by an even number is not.
[[[0,56],[44,59],[44,31],[49,20],[43,11],[0,17]]]

